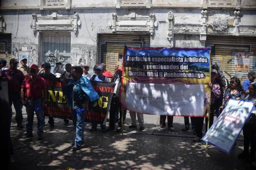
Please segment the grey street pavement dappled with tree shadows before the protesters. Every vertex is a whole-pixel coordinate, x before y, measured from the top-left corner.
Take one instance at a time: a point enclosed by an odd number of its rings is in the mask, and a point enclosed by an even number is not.
[[[127,113],[124,134],[98,130],[90,132],[86,123],[82,149],[72,151],[75,129],[70,121],[63,125],[55,119],[55,127],[44,126],[44,139],[37,140],[37,119],[34,118],[33,138],[23,139],[26,132],[26,112],[23,109],[24,129],[18,130],[13,113],[11,138],[14,155],[11,168],[14,170],[240,170],[256,169],[256,163],[248,164],[238,159],[243,151],[243,136],[230,154],[209,146],[195,143],[195,135],[182,132],[183,117],[174,117],[174,131],[160,130],[159,115],[144,115],[145,130],[129,129],[131,119]],[[167,119],[166,119],[167,121]],[[108,124],[108,123],[107,123]],[[191,124],[190,124],[191,125]],[[191,130],[191,127],[190,127]]]

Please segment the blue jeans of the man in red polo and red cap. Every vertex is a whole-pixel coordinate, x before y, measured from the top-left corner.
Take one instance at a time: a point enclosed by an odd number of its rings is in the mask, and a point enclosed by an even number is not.
[[[26,122],[26,132],[30,134],[33,132],[34,112],[37,115],[37,134],[42,136],[44,133],[44,113],[42,109],[42,98],[38,98],[36,100],[26,99],[26,113],[28,115]]]

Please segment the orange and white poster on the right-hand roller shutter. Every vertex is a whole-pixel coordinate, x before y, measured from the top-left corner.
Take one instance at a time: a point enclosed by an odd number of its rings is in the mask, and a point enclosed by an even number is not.
[[[232,52],[232,65],[235,71],[248,72],[250,63],[249,52]]]

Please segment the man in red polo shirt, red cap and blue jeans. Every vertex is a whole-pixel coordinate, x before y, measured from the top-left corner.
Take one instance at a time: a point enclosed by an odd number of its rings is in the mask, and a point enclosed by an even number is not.
[[[38,140],[43,139],[44,128],[44,113],[42,106],[46,102],[46,81],[44,78],[37,75],[38,66],[32,64],[30,66],[30,75],[26,77],[21,86],[21,100],[22,104],[26,106],[26,113],[28,115],[26,122],[26,134],[24,138],[33,137],[33,119],[34,112],[37,115],[37,129]],[[42,101],[42,91],[44,98]]]

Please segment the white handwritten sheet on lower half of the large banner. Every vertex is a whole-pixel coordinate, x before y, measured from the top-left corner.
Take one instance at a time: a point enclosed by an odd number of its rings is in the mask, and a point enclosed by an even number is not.
[[[204,85],[153,83],[129,83],[125,99],[140,113],[183,116],[203,113],[203,101]]]

